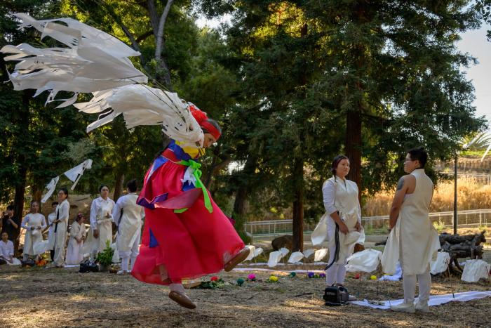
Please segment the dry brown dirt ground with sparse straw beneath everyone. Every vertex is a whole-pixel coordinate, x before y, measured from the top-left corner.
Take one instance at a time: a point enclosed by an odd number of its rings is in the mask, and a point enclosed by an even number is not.
[[[249,273],[222,272],[217,276],[229,283],[225,287],[187,290],[198,304],[187,310],[168,299],[168,287],[143,284],[130,275],[2,267],[0,327],[491,327],[491,297],[447,303],[431,307],[429,314],[414,315],[355,305],[326,307],[323,279],[307,279],[304,273],[293,278],[277,273],[279,282],[270,283],[270,273],[257,271],[260,281],[238,287],[236,280]],[[387,291],[391,299],[403,296],[401,282],[378,285],[380,299],[388,298]],[[436,277],[431,294],[448,294],[452,287],[491,289],[489,282]],[[377,299],[375,281],[347,278],[347,288],[360,299]]]

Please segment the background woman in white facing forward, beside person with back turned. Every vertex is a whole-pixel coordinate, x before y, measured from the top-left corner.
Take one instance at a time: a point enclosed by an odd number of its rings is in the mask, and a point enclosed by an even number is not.
[[[101,185],[99,192],[100,197],[94,199],[90,205],[90,229],[83,244],[83,254],[90,254],[91,258],[97,257],[97,254],[106,248],[108,241],[112,244],[114,201],[109,198],[107,185]]]

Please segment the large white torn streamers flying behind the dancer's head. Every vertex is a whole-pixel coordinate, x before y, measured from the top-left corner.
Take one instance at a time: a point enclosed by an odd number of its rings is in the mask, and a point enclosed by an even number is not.
[[[81,112],[100,113],[87,126],[96,129],[123,114],[128,129],[138,125],[162,124],[163,132],[183,145],[203,145],[203,131],[189,110],[192,104],[177,93],[150,88],[147,76],[128,57],[139,52],[115,37],[73,20],[35,20],[25,13],[19,28],[34,27],[41,39],[51,37],[68,48],[35,48],[29,44],[4,46],[5,60],[16,60],[9,77],[15,90],[36,89],[35,96],[50,91],[46,103],[64,100],[58,107],[75,103],[79,93],[93,93],[87,103],[75,104]],[[65,25],[59,22],[65,23]],[[69,99],[55,99],[60,91],[74,92]]]

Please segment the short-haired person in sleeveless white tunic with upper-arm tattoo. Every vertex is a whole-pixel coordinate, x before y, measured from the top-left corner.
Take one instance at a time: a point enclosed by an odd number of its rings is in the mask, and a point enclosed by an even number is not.
[[[397,185],[389,218],[389,238],[382,254],[384,273],[393,273],[397,261],[403,269],[404,302],[391,310],[415,313],[429,312],[431,289],[430,262],[440,249],[438,232],[429,219],[429,205],[433,197],[433,183],[424,173],[427,160],[423,148],[408,152],[403,176]],[[419,298],[415,303],[416,282]]]

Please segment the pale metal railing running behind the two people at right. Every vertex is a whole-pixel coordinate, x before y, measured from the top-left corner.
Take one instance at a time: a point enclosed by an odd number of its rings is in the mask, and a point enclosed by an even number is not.
[[[431,222],[442,228],[452,227],[453,211],[436,212],[429,214]],[[471,209],[458,211],[458,226],[479,227],[491,225],[491,209]],[[361,218],[366,228],[384,228],[389,225],[389,216],[365,216]],[[315,223],[304,222],[304,233],[316,228]],[[274,237],[292,234],[292,220],[250,221],[245,223],[245,231],[253,237]]]

